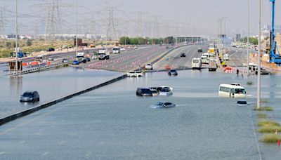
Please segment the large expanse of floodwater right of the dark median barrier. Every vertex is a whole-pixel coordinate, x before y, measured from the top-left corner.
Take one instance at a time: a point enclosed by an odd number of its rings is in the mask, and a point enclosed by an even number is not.
[[[262,77],[262,97],[277,120],[280,78]],[[0,159],[260,159],[254,105],[218,98],[219,84],[237,82],[255,102],[251,79],[247,86],[241,76],[207,70],[123,79],[1,126]],[[136,96],[137,87],[150,86],[171,86],[174,94]],[[176,107],[150,108],[158,101]],[[280,147],[258,144],[262,159],[280,159]]]

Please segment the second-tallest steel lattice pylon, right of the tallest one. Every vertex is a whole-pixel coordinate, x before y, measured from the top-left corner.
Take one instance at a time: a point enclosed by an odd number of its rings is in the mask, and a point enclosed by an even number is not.
[[[108,25],[106,31],[107,40],[116,40],[116,30],[115,30],[115,23],[113,17],[113,8],[108,9]]]

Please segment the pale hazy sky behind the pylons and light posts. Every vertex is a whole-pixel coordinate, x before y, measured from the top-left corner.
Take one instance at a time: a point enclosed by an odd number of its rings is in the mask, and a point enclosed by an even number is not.
[[[42,24],[46,24],[48,20],[48,8],[44,8],[43,4],[51,3],[53,0],[18,0],[18,14],[20,15],[20,34],[35,34],[39,27],[41,32]],[[76,31],[75,25],[75,1],[55,0],[60,1],[60,21],[63,32]],[[168,24],[175,28],[177,22],[178,27],[185,27],[181,34],[187,31],[186,34],[217,34],[218,18],[227,17],[226,31],[227,34],[243,33],[247,31],[247,0],[79,0],[79,32],[90,32],[91,12],[96,13],[96,30],[100,34],[105,34],[107,28],[107,6],[115,7],[115,25],[118,34],[134,33],[132,27],[137,25],[137,13],[143,12],[143,31],[144,34],[152,34],[152,27],[155,16],[157,16],[157,25],[162,27],[161,33],[168,32],[169,29],[164,29]],[[0,5],[4,8],[4,25],[5,33],[14,32],[14,1],[0,0]],[[281,6],[281,1],[276,1],[275,23],[280,25],[281,13],[278,8]],[[250,25],[251,34],[258,33],[258,7],[259,1],[250,0]],[[126,24],[127,22],[127,24]],[[150,22],[150,23],[149,23]],[[262,27],[271,23],[271,3],[269,0],[262,1]],[[130,24],[130,25],[129,25]],[[146,25],[145,25],[146,24]],[[130,29],[124,29],[131,27]],[[170,29],[171,30],[171,29]],[[179,30],[179,28],[178,28]],[[128,32],[128,33],[124,33]],[[160,32],[160,31],[159,31]],[[172,31],[169,31],[172,32]],[[175,31],[173,31],[175,32]],[[161,34],[160,33],[160,34]]]

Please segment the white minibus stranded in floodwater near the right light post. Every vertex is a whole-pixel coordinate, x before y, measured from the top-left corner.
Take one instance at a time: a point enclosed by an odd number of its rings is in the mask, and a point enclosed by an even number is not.
[[[246,90],[236,84],[221,84],[218,88],[218,96],[227,98],[245,98]]]

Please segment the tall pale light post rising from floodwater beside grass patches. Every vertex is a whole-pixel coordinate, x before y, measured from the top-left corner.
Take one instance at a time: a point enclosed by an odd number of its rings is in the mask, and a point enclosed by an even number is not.
[[[258,55],[258,86],[256,107],[261,107],[261,0],[259,0],[259,55]]]

